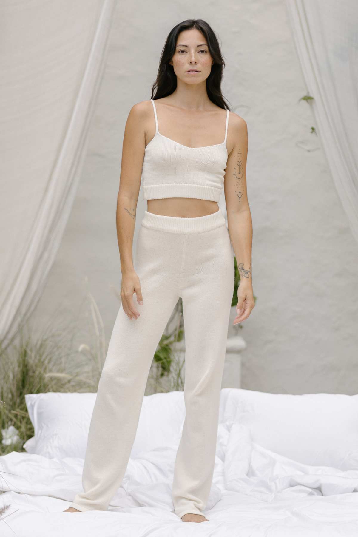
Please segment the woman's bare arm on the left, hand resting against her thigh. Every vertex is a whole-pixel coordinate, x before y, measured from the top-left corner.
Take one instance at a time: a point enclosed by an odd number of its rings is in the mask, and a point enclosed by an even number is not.
[[[123,309],[130,319],[140,315],[133,302],[133,293],[136,293],[138,303],[143,301],[140,281],[134,270],[132,251],[147,118],[148,101],[135,104],[128,114],[117,197],[116,227],[122,272],[121,298]]]

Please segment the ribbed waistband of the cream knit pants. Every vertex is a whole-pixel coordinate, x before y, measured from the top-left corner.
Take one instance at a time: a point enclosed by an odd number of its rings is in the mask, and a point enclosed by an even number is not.
[[[223,226],[225,223],[225,217],[220,208],[216,213],[194,217],[165,216],[144,211],[142,220],[142,226],[146,228],[171,231],[171,233],[201,233]]]

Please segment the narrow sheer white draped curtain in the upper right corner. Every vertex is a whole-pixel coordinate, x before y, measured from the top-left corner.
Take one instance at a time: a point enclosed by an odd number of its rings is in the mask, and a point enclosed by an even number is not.
[[[287,0],[286,6],[318,135],[358,241],[358,3]]]

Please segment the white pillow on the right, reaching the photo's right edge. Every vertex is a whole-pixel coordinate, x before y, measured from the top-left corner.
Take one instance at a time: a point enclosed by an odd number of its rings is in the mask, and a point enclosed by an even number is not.
[[[221,391],[220,420],[246,425],[256,444],[304,464],[358,470],[358,395]]]

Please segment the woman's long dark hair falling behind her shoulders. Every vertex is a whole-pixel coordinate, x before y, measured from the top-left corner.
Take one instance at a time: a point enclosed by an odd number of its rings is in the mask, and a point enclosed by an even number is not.
[[[174,28],[169,32],[162,50],[162,54],[160,55],[157,79],[152,85],[151,99],[167,97],[168,95],[171,95],[171,93],[173,93],[173,91],[177,88],[177,75],[174,73],[173,66],[169,64],[169,60],[171,60],[174,56],[179,33],[184,30],[190,30],[191,28],[196,28],[204,35],[208,43],[210,55],[214,60],[214,65],[211,66],[210,75],[206,79],[206,90],[208,97],[217,106],[224,108],[224,110],[228,110],[229,105],[225,102],[220,87],[225,62],[221,55],[220,46],[214,30],[205,20],[202,19],[184,20],[182,23],[174,26]]]

